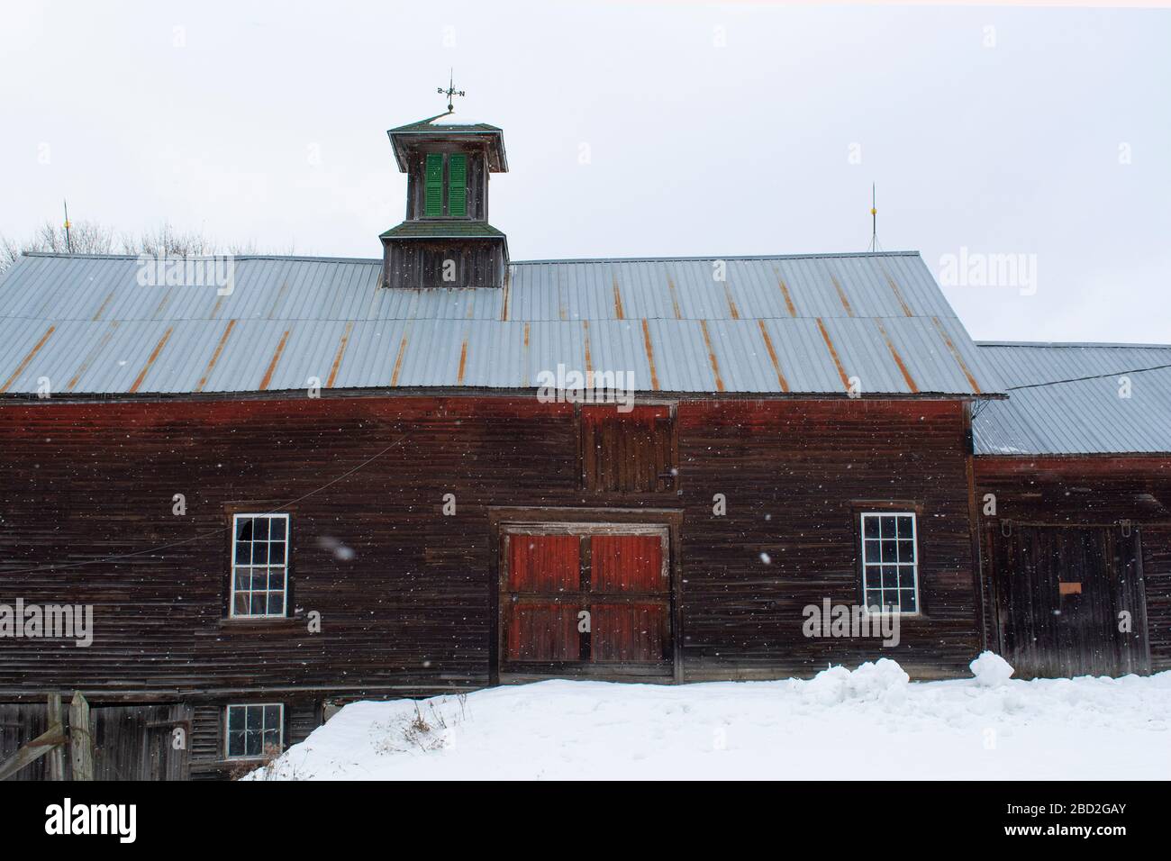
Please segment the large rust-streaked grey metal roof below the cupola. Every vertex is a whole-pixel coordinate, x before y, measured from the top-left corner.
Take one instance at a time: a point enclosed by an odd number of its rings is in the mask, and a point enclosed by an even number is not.
[[[388,289],[381,260],[239,257],[234,287],[141,286],[137,258],[0,276],[0,394],[530,389],[559,364],[642,392],[1002,391],[917,253],[513,262],[504,288]]]

